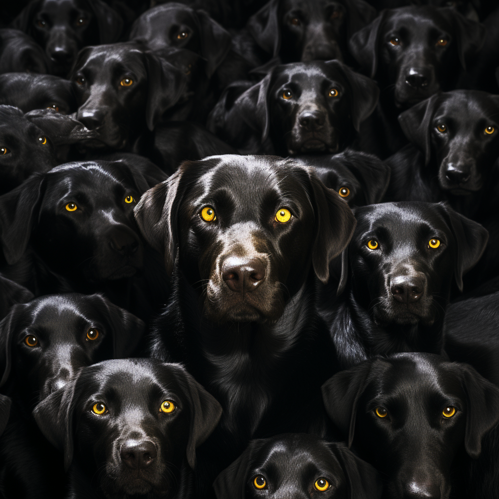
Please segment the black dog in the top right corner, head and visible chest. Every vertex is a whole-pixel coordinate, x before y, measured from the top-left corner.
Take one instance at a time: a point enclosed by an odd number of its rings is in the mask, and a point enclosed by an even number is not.
[[[383,10],[349,42],[363,72],[381,89],[369,152],[381,158],[405,143],[397,115],[440,90],[455,88],[482,46],[485,28],[452,8],[429,5]]]

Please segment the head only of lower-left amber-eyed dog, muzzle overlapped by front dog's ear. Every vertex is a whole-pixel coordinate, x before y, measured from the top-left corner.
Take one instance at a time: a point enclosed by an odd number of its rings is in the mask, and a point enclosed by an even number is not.
[[[0,330],[0,386],[13,385],[31,405],[62,388],[80,367],[131,354],[144,323],[101,295],[71,293],[15,305]]]

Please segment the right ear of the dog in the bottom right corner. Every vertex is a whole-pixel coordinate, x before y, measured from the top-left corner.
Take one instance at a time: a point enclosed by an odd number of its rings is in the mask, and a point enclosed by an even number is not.
[[[466,452],[477,459],[482,440],[499,422],[499,389],[481,376],[474,367],[461,364],[463,388],[467,397]]]

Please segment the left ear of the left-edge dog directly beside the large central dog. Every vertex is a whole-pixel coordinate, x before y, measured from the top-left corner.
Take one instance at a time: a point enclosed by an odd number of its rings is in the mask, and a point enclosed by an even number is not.
[[[35,173],[0,196],[0,239],[7,263],[13,265],[26,250],[43,197],[44,175]]]

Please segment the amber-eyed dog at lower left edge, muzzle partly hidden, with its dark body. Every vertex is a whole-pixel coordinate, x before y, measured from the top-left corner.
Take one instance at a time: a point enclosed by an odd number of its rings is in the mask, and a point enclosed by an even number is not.
[[[10,411],[0,408],[0,427],[8,419],[0,439],[2,497],[62,495],[62,459],[31,410],[79,368],[133,354],[143,331],[140,319],[98,294],[44,296],[11,308],[0,323],[0,391],[11,400]]]

